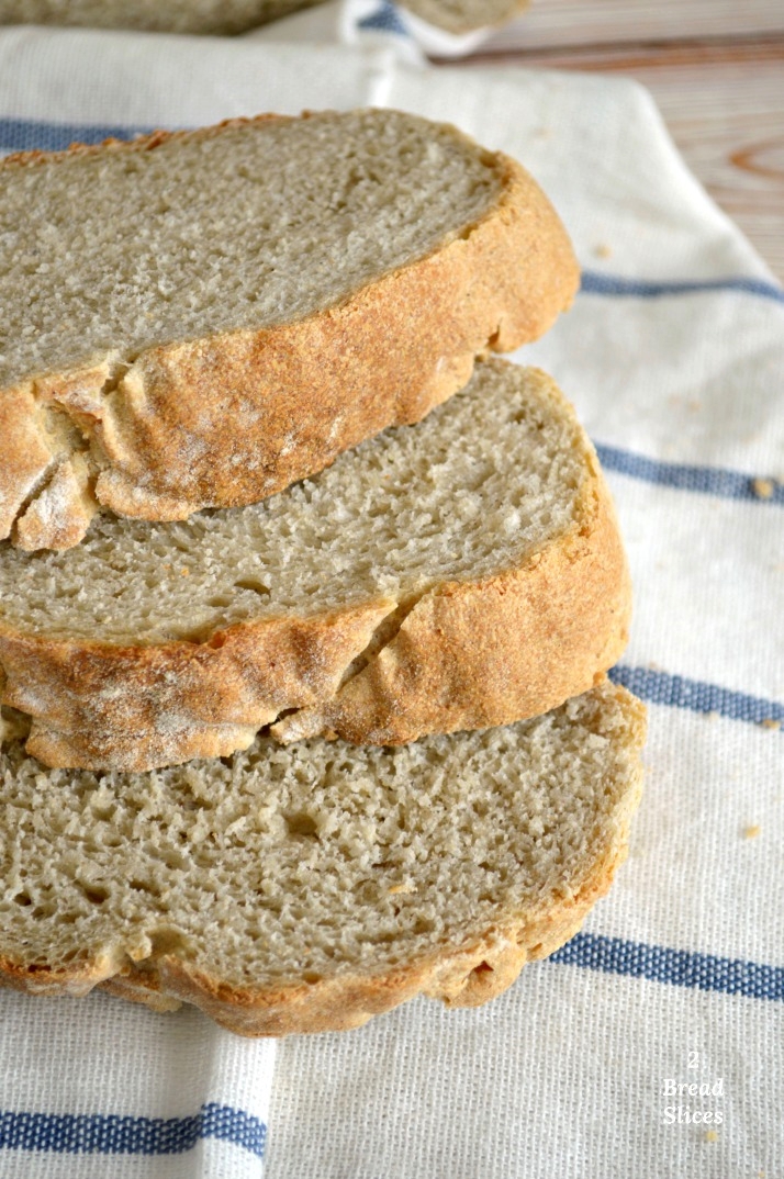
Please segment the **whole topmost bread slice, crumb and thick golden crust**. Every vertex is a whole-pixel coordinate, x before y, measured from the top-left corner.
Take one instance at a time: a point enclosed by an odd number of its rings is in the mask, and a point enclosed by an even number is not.
[[[0,536],[256,502],[545,331],[578,270],[513,160],[396,111],[0,164]]]

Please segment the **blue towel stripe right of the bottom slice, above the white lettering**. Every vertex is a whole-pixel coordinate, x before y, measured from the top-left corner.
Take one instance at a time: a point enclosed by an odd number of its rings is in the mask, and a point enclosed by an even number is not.
[[[577,934],[549,959],[561,966],[581,966],[673,987],[717,990],[744,999],[784,1000],[784,968],[745,962],[742,959],[717,957],[692,950],[673,950],[666,946],[646,946],[621,937]]]

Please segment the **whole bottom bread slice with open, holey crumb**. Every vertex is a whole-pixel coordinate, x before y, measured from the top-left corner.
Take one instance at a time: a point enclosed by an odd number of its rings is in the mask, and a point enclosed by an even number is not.
[[[244,1035],[472,1006],[571,937],[626,854],[644,709],[604,683],[398,749],[259,737],[147,775],[2,775],[0,981],[196,1003]]]

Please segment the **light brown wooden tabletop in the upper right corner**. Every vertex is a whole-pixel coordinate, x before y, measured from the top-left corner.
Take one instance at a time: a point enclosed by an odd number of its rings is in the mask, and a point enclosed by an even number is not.
[[[551,0],[556,11],[588,5]],[[712,8],[729,19],[720,2],[691,0],[678,5],[686,27]],[[640,4],[606,0],[606,13],[645,9],[652,27],[654,9]],[[736,6],[738,24],[767,13],[784,27],[784,4],[762,0]],[[532,13],[533,15],[534,13]],[[658,18],[657,18],[658,19]],[[514,28],[525,21],[515,21]],[[644,22],[645,24],[645,22]],[[674,22],[679,27],[681,21]],[[620,28],[627,27],[621,20]],[[645,26],[647,27],[647,26]],[[722,27],[724,27],[722,25]],[[670,31],[672,33],[672,28]],[[569,34],[577,35],[573,29]],[[709,41],[679,37],[663,44],[640,39],[626,44],[555,44],[510,51],[502,34],[465,64],[587,70],[626,75],[652,92],[686,163],[716,202],[746,233],[773,275],[784,281],[784,33],[764,38],[726,35]]]

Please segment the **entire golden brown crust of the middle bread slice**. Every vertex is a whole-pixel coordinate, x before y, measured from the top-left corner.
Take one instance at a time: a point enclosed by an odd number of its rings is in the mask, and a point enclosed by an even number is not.
[[[589,689],[627,640],[628,569],[587,443],[585,461],[571,527],[520,567],[203,641],[117,646],[0,624],[0,699],[33,718],[27,750],[46,765],[134,771],[228,756],[282,713],[282,742],[381,745],[538,716]]]

